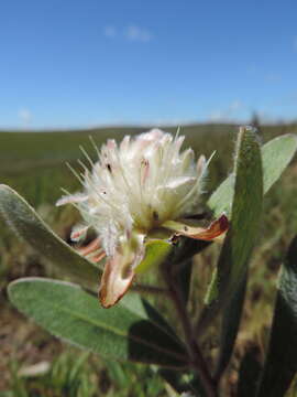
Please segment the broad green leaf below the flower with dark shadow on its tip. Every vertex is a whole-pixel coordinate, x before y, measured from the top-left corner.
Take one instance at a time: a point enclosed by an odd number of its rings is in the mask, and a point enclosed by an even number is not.
[[[147,302],[136,311],[122,302],[107,310],[76,285],[42,278],[13,281],[9,298],[55,336],[103,357],[175,368],[187,366],[184,346],[166,328],[151,321]]]

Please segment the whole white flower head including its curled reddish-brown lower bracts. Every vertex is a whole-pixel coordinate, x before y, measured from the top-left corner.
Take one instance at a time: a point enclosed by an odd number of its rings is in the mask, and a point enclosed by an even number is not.
[[[118,146],[108,140],[98,161],[78,176],[82,193],[63,196],[57,205],[73,203],[84,218],[72,238],[84,238],[89,227],[98,237],[80,254],[99,261],[107,256],[99,290],[102,305],[117,303],[133,281],[145,256],[145,240],[153,230],[167,229],[191,238],[211,240],[228,228],[226,216],[207,229],[186,226],[180,219],[195,215],[204,191],[208,163],[197,163],[191,149],[180,151],[185,137],[152,129]]]

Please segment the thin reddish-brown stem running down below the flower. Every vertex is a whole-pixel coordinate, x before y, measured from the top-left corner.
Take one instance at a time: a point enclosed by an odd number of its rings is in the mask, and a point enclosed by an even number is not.
[[[200,347],[196,341],[194,330],[189,320],[189,316],[186,312],[186,307],[183,301],[183,297],[180,294],[180,290],[176,282],[176,279],[173,277],[172,273],[172,266],[170,264],[166,262],[163,266],[163,277],[168,288],[168,294],[172,298],[172,301],[175,305],[177,314],[183,325],[185,341],[188,348],[188,354],[190,357],[190,364],[194,369],[197,372],[201,384],[207,393],[208,397],[217,397],[217,385],[215,379],[212,379],[210,372],[207,367],[207,363],[201,354]]]

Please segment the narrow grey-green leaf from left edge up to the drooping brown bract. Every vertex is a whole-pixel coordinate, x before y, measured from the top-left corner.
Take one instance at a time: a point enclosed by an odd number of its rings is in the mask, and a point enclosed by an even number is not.
[[[92,262],[76,253],[41,219],[34,208],[11,187],[0,185],[0,213],[8,225],[54,266],[88,286],[97,286],[101,272]]]

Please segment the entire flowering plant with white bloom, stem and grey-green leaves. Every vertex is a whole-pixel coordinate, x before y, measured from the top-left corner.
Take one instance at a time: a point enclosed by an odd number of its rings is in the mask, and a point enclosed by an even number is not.
[[[20,279],[9,286],[9,297],[21,312],[69,343],[103,357],[153,364],[177,393],[218,396],[239,331],[263,195],[295,154],[297,138],[282,136],[261,147],[254,129],[241,128],[233,172],[206,203],[211,158],[200,155],[196,163],[191,149],[180,150],[183,140],[154,129],[125,137],[119,146],[109,140],[101,150],[96,147],[96,162],[85,153],[90,168],[81,163],[84,172],[74,171],[82,191],[66,192],[57,202],[70,203],[81,214],[72,232],[75,249],[16,192],[1,185],[0,211],[8,225],[76,281]],[[212,222],[201,224],[205,208]],[[85,245],[90,229],[96,236]],[[212,242],[219,242],[220,255],[202,309],[193,319],[187,310],[193,257]],[[245,365],[238,396],[284,396],[297,371],[292,348],[297,346],[296,254],[295,238],[284,261],[264,368],[251,383]],[[158,271],[160,282],[133,283],[150,268]],[[98,275],[103,308],[95,297]],[[133,293],[121,299],[130,287]],[[141,292],[170,301],[178,324],[168,324]],[[210,361],[200,341],[219,314],[219,354]]]

